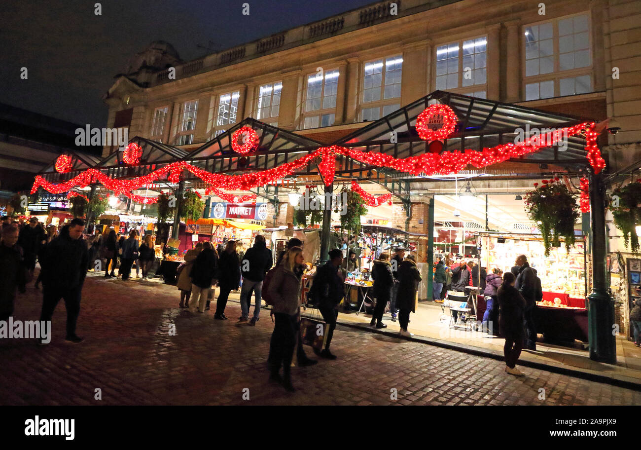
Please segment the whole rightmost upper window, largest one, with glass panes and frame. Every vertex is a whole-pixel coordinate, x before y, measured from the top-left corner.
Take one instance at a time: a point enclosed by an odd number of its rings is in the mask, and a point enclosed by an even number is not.
[[[526,100],[592,92],[587,13],[524,27]]]

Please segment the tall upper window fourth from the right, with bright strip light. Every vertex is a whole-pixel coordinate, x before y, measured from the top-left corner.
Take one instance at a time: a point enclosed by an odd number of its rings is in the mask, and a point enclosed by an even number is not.
[[[338,69],[307,76],[303,128],[334,124],[337,90]]]

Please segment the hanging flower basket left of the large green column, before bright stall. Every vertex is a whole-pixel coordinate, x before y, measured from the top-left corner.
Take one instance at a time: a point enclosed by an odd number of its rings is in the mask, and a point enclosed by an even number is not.
[[[559,178],[544,179],[535,190],[525,196],[528,218],[537,224],[543,237],[545,256],[552,247],[560,247],[560,237],[565,240],[565,249],[574,246],[574,224],[579,219],[576,199]]]

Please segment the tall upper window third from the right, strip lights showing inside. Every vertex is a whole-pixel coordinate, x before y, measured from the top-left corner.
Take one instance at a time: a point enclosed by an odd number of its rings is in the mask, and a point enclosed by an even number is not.
[[[400,108],[403,56],[365,63],[362,121],[376,121]]]

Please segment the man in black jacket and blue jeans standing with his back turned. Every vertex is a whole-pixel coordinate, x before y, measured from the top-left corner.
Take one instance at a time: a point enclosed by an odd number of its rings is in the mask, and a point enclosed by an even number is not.
[[[256,235],[254,246],[247,250],[240,262],[243,283],[240,289],[240,316],[241,322],[247,322],[249,319],[249,304],[251,303],[251,293],[254,292],[256,305],[254,306],[254,317],[249,321],[249,325],[255,326],[260,319],[260,302],[262,301],[263,280],[265,274],[272,267],[272,251],[267,248],[265,237]]]

